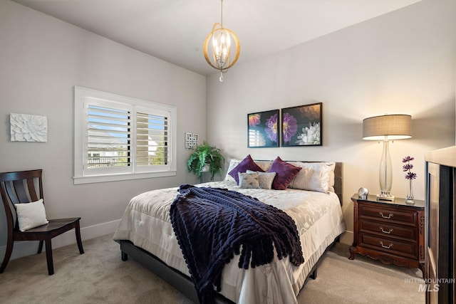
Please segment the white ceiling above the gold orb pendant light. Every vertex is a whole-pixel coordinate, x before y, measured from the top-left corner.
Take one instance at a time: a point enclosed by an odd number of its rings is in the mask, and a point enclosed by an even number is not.
[[[11,0],[202,75],[202,54],[220,22],[218,0]],[[296,46],[420,0],[225,0],[240,63]],[[235,68],[235,66],[233,67]]]

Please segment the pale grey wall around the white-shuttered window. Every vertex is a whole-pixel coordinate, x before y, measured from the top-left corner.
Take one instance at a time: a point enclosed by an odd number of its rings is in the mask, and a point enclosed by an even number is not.
[[[0,1],[0,41],[0,172],[43,169],[48,218],[81,216],[88,239],[113,232],[136,194],[197,180],[184,133],[206,136],[204,76],[11,1]],[[177,176],[75,186],[74,85],[177,106]],[[46,115],[48,142],[11,142],[11,112]],[[5,229],[1,214],[0,257]]]

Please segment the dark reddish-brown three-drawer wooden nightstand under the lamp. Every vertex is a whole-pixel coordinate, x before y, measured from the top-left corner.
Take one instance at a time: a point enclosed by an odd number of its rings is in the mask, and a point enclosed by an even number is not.
[[[405,204],[405,199],[380,201],[375,195],[353,201],[353,245],[356,253],[385,264],[420,268],[425,264],[425,201]]]

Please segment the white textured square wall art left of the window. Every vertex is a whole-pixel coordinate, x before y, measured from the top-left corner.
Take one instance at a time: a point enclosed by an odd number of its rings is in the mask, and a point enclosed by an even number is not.
[[[11,113],[11,142],[47,142],[48,117]]]

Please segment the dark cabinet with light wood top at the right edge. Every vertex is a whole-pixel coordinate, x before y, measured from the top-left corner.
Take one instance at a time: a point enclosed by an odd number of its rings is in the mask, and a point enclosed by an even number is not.
[[[426,303],[456,303],[456,147],[427,152]]]

